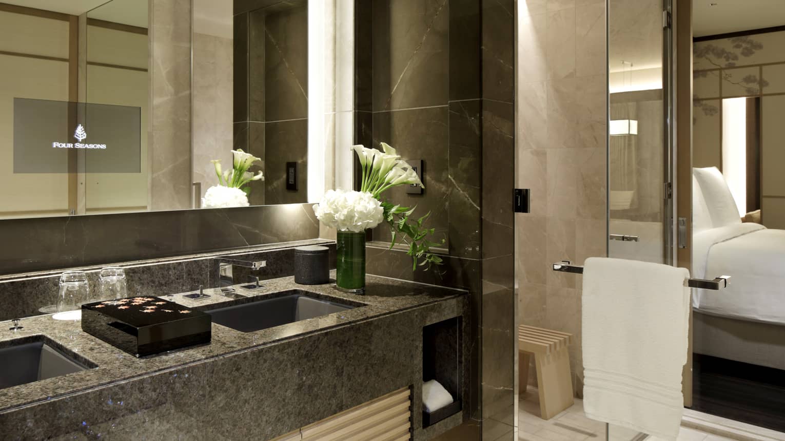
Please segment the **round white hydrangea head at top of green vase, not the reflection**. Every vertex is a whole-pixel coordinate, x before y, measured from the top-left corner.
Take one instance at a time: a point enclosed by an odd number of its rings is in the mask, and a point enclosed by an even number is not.
[[[324,225],[354,233],[374,228],[384,220],[382,203],[368,192],[327,190],[313,211]]]

